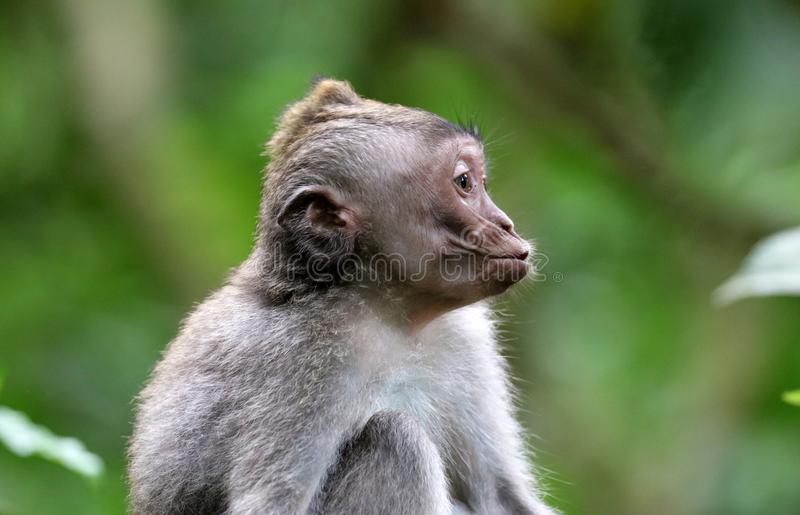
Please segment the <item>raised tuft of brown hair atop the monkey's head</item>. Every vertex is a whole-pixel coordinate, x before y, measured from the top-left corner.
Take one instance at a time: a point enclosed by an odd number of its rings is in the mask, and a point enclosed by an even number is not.
[[[273,158],[280,157],[296,141],[303,130],[314,123],[324,109],[334,105],[352,105],[361,101],[349,82],[315,77],[311,91],[299,102],[289,106],[278,120],[278,127],[267,143],[267,151]]]

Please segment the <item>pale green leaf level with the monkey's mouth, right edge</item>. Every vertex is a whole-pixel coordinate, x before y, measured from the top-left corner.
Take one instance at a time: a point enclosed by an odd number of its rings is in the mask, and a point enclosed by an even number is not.
[[[800,227],[756,245],[736,275],[714,292],[714,300],[730,304],[769,295],[800,295]]]

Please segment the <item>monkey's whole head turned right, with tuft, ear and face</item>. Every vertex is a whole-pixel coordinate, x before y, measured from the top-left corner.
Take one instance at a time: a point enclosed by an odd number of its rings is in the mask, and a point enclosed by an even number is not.
[[[468,129],[322,80],[268,147],[257,248],[273,295],[358,286],[424,321],[528,270],[530,246],[489,198]]]

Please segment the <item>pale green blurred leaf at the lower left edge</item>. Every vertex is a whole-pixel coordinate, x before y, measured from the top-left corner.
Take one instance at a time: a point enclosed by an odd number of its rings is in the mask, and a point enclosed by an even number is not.
[[[103,460],[76,438],[54,435],[24,413],[0,406],[0,442],[19,456],[38,454],[88,478],[103,472]]]

